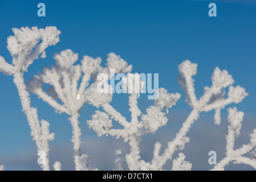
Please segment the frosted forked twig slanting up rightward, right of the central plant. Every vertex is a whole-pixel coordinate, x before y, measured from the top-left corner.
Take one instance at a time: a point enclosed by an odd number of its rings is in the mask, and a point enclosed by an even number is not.
[[[167,160],[172,159],[172,155],[176,150],[183,149],[185,144],[189,142],[189,138],[186,137],[190,127],[193,125],[194,121],[197,121],[200,117],[202,111],[216,110],[214,115],[214,120],[217,125],[221,123],[220,111],[226,105],[236,103],[238,104],[245,98],[248,93],[241,86],[233,87],[231,84],[234,83],[231,75],[227,71],[221,71],[219,68],[214,69],[212,76],[212,86],[205,87],[205,92],[203,96],[197,100],[194,93],[194,80],[192,76],[196,75],[197,64],[191,63],[189,60],[184,61],[178,66],[180,75],[178,76],[178,81],[182,89],[184,89],[186,101],[192,107],[192,111],[189,114],[186,121],[183,123],[181,129],[176,134],[176,137],[168,142],[168,147],[164,150],[162,155],[159,152],[154,154],[152,163],[155,163],[157,169],[161,169]],[[230,86],[229,86],[230,85]],[[225,88],[229,86],[228,97],[225,98]],[[157,144],[157,151],[160,150],[159,144]]]

